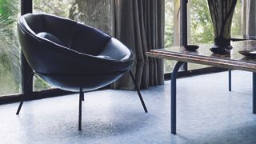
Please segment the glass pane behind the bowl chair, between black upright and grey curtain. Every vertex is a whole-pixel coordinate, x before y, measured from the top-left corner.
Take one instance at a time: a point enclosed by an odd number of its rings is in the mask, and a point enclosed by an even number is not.
[[[34,0],[34,13],[54,14],[113,34],[113,0]],[[50,87],[34,77],[34,90]]]

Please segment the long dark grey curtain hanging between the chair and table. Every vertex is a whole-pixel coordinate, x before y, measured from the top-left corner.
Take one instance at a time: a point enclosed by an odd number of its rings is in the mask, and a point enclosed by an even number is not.
[[[163,47],[164,0],[115,0],[114,34],[136,55],[132,72],[141,89],[161,85],[163,62],[147,58],[146,52]],[[112,85],[114,89],[134,90],[129,74]]]

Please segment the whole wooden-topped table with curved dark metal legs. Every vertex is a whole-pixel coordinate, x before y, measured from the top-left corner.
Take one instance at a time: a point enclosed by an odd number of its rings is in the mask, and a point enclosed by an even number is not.
[[[238,53],[239,50],[256,50],[256,41],[231,42],[231,45],[233,50],[231,50],[230,54],[226,55],[213,54],[210,51],[212,45],[200,46],[194,52],[186,50],[183,46],[174,46],[150,50],[146,53],[149,57],[178,61],[171,74],[170,121],[172,134],[176,134],[176,78],[179,68],[185,62],[253,72],[253,114],[256,114],[256,58],[247,58]]]

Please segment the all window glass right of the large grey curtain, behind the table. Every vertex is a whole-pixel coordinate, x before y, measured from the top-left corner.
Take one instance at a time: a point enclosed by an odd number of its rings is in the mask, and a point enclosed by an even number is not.
[[[178,46],[179,37],[179,0],[165,1],[165,46]],[[214,30],[210,18],[207,0],[188,1],[188,43],[213,44]],[[242,38],[242,0],[238,1],[234,12],[231,35]],[[170,73],[175,61],[165,60],[165,73]],[[188,63],[188,70],[206,68],[209,66]]]

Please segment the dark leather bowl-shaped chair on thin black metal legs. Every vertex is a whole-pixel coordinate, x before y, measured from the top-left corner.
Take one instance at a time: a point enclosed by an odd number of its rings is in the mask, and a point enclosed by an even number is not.
[[[83,92],[116,81],[127,71],[146,110],[130,67],[134,54],[121,42],[101,31],[47,14],[26,14],[19,18],[18,38],[27,62],[52,86],[80,92],[78,130],[81,130]],[[18,111],[22,107],[22,96]]]

